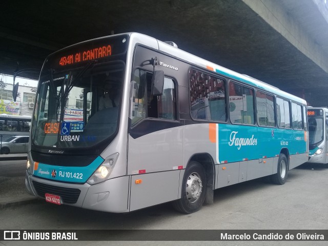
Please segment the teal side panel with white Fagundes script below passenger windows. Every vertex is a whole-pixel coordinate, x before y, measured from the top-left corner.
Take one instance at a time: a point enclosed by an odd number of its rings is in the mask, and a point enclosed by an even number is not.
[[[220,162],[275,157],[282,148],[290,155],[306,153],[304,132],[289,129],[222,124],[218,125],[217,141]]]

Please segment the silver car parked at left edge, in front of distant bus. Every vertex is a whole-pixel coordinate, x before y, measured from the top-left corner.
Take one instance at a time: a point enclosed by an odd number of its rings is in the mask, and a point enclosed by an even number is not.
[[[27,153],[28,142],[29,136],[11,136],[0,142],[0,153]]]

